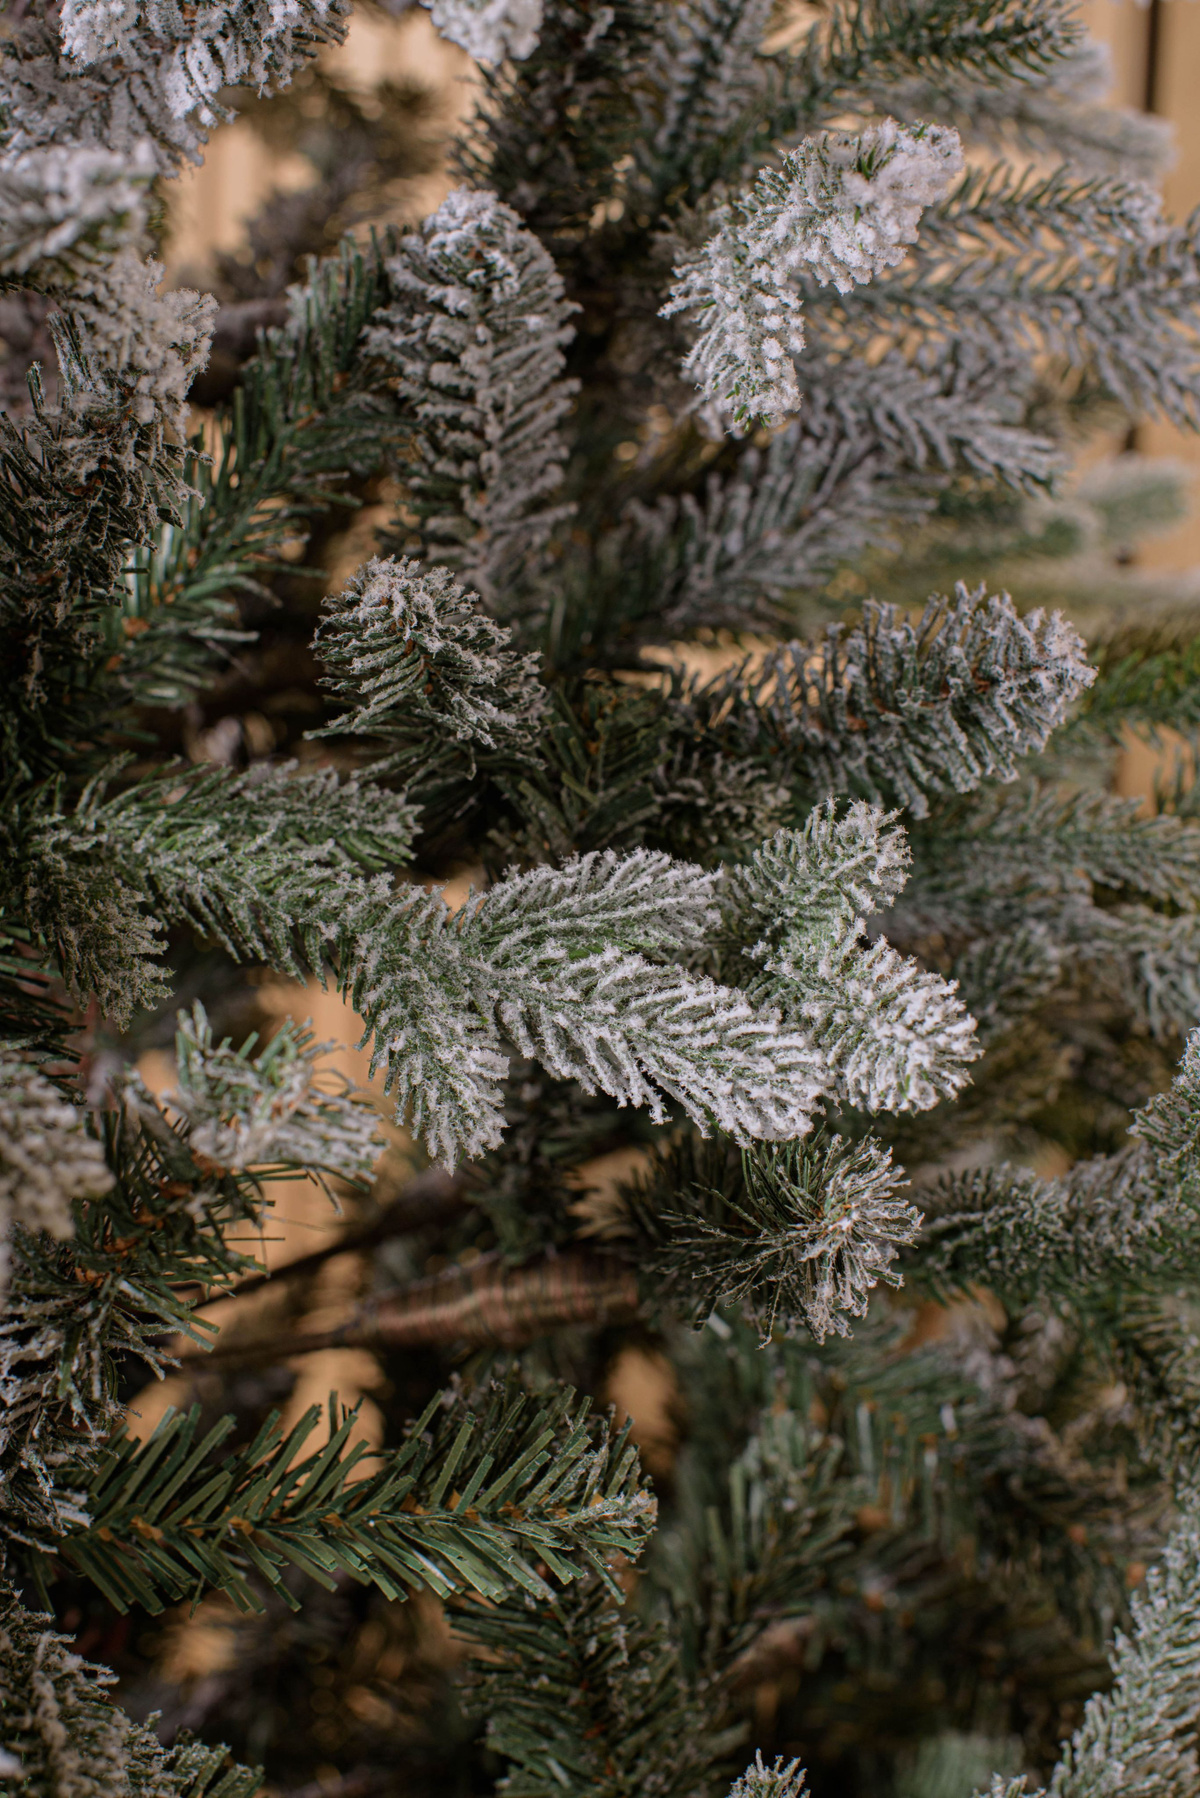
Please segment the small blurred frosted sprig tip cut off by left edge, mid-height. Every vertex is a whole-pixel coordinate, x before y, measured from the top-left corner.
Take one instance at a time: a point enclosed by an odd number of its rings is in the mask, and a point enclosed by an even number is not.
[[[110,1190],[104,1149],[86,1113],[18,1048],[0,1046],[0,1300],[9,1284],[14,1224],[59,1241],[74,1233],[72,1206]]]

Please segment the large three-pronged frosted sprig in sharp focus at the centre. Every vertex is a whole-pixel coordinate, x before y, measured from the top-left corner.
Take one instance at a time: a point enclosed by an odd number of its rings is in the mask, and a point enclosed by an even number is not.
[[[649,874],[660,904],[648,904]],[[401,1111],[453,1163],[500,1142],[504,1037],[558,1079],[738,1142],[808,1129],[822,1061],[802,1030],[664,966],[711,906],[711,876],[635,852],[509,876],[448,913],[437,894],[363,892],[329,949]],[[682,933],[682,937],[680,937]],[[649,953],[646,953],[649,951]],[[694,951],[693,951],[694,953]]]

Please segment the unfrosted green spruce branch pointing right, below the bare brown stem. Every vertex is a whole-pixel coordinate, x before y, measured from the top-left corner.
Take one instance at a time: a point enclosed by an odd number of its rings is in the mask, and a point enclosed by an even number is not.
[[[592,1571],[615,1589],[606,1562],[639,1552],[655,1501],[628,1429],[596,1424],[588,1404],[570,1388],[536,1401],[493,1386],[470,1406],[435,1395],[371,1473],[360,1465],[371,1451],[351,1444],[356,1413],[338,1419],[333,1399],[329,1440],[309,1455],[317,1406],[286,1438],[272,1413],[223,1458],[232,1417],[201,1435],[198,1406],[169,1411],[144,1444],[113,1444],[92,1478],[88,1527],[58,1552],[121,1611],[160,1611],[205,1588],[261,1609],[259,1580],[295,1606],[288,1566],[327,1588],[347,1573],[389,1598],[412,1586],[549,1598],[538,1562],[558,1584]]]

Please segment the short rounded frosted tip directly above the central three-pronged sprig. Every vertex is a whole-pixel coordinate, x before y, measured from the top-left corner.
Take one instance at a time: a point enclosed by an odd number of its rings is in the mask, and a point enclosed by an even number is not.
[[[347,710],[317,735],[428,744],[450,732],[484,748],[529,741],[545,710],[538,658],[444,568],[372,557],[326,601],[313,638],[326,687]]]

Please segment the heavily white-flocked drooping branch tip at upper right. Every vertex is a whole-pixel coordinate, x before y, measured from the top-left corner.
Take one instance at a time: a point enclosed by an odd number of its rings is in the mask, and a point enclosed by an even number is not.
[[[747,426],[795,412],[804,316],[793,280],[847,293],[894,268],[961,169],[957,131],[885,119],[856,137],[806,138],[725,207],[714,236],[676,266],[662,307],[698,327],[684,370],[709,414]]]

